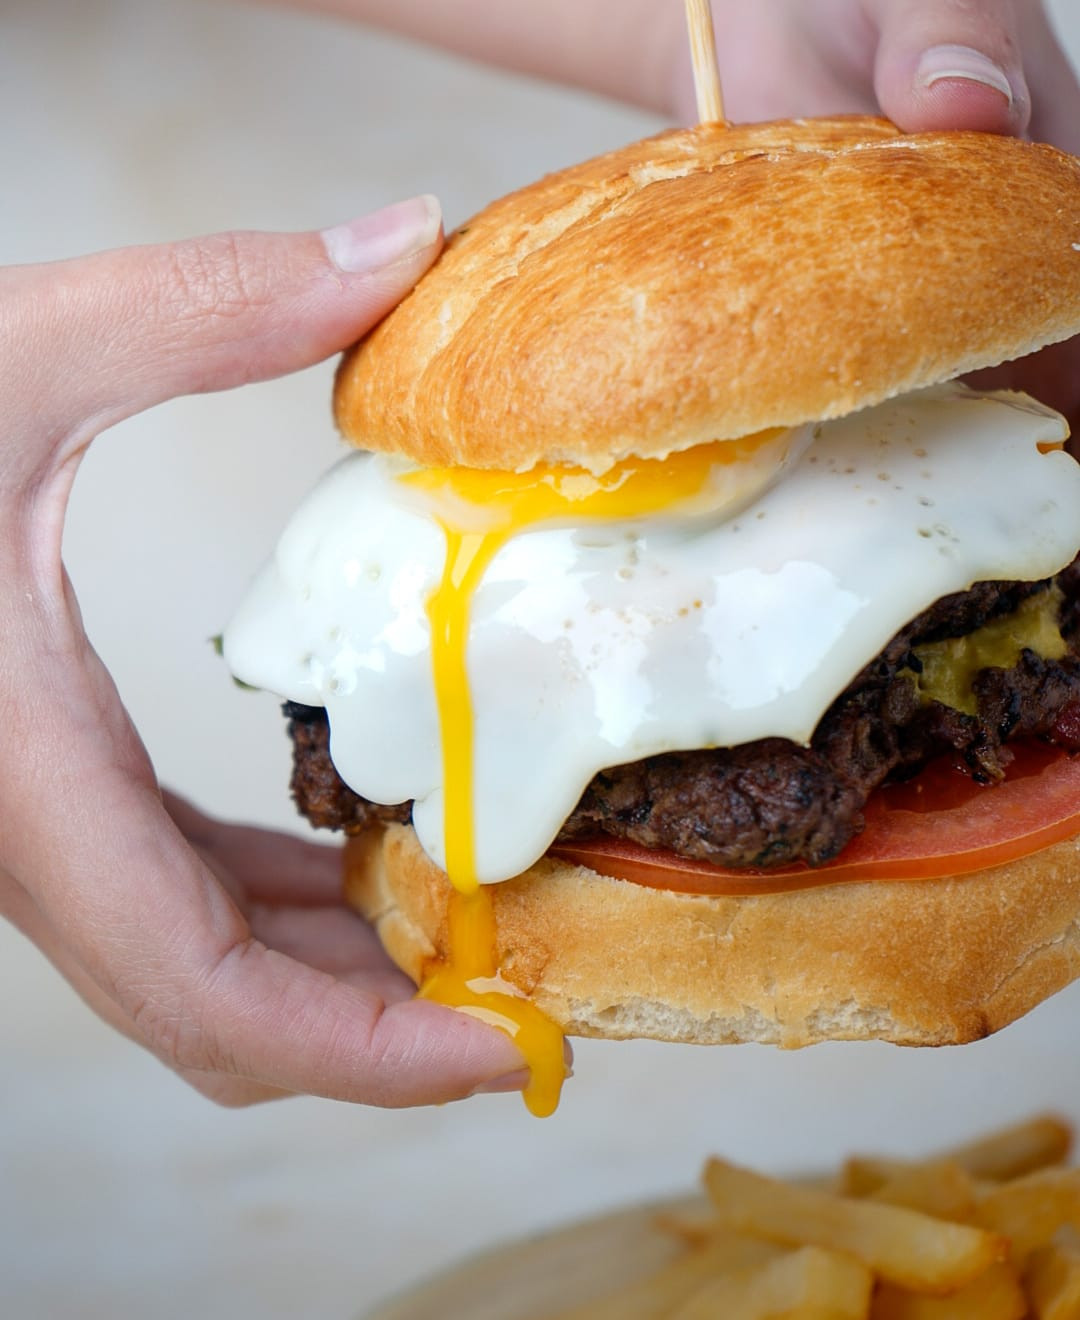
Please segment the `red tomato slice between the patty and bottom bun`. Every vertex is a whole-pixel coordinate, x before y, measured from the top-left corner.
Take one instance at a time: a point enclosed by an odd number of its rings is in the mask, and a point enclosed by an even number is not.
[[[681,894],[778,894],[856,880],[939,879],[1013,862],[1080,834],[1080,752],[1018,743],[998,784],[976,784],[933,762],[915,779],[878,789],[866,828],[824,866],[738,870],[611,838],[558,843],[552,854],[601,875]]]

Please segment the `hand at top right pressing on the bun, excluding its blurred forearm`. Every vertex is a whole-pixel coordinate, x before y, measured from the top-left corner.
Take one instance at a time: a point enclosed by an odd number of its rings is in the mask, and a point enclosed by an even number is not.
[[[1080,86],[1040,0],[713,0],[734,120],[883,114],[908,132],[978,129],[1080,154]],[[676,73],[693,117],[689,54]],[[1027,389],[1080,436],[1080,341],[978,372]]]

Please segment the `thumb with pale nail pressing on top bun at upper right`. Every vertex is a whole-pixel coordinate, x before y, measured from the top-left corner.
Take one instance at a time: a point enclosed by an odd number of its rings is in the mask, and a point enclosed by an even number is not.
[[[1031,100],[1013,0],[865,0],[881,33],[874,90],[907,132],[1022,133]]]

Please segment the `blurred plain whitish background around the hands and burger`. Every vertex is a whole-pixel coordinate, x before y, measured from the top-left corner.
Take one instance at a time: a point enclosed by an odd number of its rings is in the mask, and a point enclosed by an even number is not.
[[[1080,13],[1056,12],[1073,51]],[[0,7],[0,261],[226,227],[322,226],[417,191],[454,223],[659,127],[330,21],[211,0]],[[330,367],[184,400],[99,441],[67,560],[165,781],[300,828],[269,697],[206,644],[338,453]],[[0,828],[3,824],[0,822]],[[0,1315],[349,1317],[495,1237],[767,1168],[922,1148],[1052,1106],[1080,1119],[1080,986],[978,1045],[580,1043],[520,1100],[222,1111],[100,1026],[0,928]]]

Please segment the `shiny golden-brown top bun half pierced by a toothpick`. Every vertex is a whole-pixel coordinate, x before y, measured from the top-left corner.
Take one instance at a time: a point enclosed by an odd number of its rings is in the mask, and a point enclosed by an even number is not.
[[[495,202],[343,360],[356,445],[524,470],[842,416],[1080,330],[1080,162],[700,125]]]

